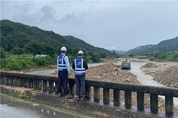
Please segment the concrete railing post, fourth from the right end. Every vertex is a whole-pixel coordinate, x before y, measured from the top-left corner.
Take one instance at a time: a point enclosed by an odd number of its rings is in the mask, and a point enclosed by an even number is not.
[[[131,108],[132,106],[132,95],[131,91],[125,91],[125,107],[126,108]]]

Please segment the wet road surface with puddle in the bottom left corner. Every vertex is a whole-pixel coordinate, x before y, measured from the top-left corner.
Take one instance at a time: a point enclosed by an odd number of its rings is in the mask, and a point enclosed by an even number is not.
[[[93,118],[61,107],[51,107],[0,94],[0,118]]]

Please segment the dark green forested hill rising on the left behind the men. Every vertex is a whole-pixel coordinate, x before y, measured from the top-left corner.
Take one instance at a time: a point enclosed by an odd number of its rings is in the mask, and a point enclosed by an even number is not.
[[[5,51],[11,51],[15,46],[25,48],[26,45],[36,42],[39,47],[48,47],[48,50],[60,51],[61,46],[72,50],[98,51],[111,54],[109,50],[94,47],[83,40],[73,36],[61,36],[53,31],[44,31],[38,27],[16,23],[9,20],[1,20],[1,47]],[[39,48],[40,50],[40,48]]]

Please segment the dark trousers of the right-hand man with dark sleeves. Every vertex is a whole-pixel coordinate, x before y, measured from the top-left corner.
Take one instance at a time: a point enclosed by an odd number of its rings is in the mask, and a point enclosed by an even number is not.
[[[85,77],[75,77],[76,96],[80,96],[80,87],[82,89],[82,97],[85,97]]]

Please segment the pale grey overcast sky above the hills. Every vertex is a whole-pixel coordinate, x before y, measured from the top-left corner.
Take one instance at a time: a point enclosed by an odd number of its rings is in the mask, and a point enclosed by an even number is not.
[[[178,36],[178,0],[1,0],[1,17],[105,49]]]

